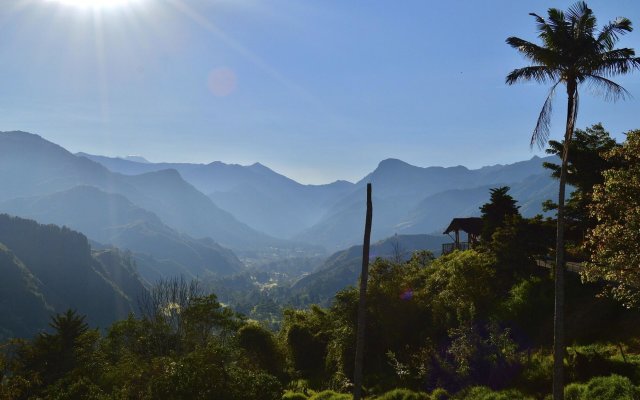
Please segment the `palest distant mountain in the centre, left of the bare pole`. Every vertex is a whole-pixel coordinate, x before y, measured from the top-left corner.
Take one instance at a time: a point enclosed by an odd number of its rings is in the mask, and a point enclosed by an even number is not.
[[[303,185],[260,163],[224,164],[149,163],[122,158],[76,155],[125,175],[174,169],[211,200],[240,221],[280,238],[292,238],[320,221],[324,212],[353,190],[354,184],[336,181]]]

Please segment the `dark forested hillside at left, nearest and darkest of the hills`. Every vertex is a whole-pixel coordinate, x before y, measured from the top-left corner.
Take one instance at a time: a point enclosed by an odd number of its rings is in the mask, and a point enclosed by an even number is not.
[[[136,312],[146,291],[131,256],[92,254],[87,238],[68,228],[0,214],[0,307],[3,338],[46,328],[53,312],[68,308],[106,328]]]

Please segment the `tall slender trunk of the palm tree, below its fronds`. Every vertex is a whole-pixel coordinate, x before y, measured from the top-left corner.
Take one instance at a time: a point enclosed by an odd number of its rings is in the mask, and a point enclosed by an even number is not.
[[[564,197],[569,161],[569,144],[577,115],[577,84],[567,82],[567,125],[564,134],[560,188],[558,190],[558,224],[556,235],[555,304],[553,314],[553,400],[564,399]]]

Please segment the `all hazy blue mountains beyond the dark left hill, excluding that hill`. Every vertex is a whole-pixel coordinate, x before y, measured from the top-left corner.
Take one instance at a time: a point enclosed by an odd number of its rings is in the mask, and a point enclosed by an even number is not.
[[[259,163],[72,154],[38,135],[3,132],[0,211],[67,225],[97,247],[128,249],[149,282],[176,274],[231,275],[360,243],[368,182],[374,241],[440,234],[451,218],[478,215],[496,186],[512,188],[523,215],[541,213],[542,201],[556,193],[542,167],[552,160],[468,169],[387,159],[356,183],[303,185]]]

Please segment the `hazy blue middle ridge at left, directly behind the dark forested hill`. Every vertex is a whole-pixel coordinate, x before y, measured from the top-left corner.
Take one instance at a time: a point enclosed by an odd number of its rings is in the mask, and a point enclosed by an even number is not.
[[[66,225],[99,243],[128,249],[148,282],[177,275],[230,275],[244,268],[231,250],[213,240],[179,233],[126,197],[93,186],[8,200],[0,209],[42,223]]]

